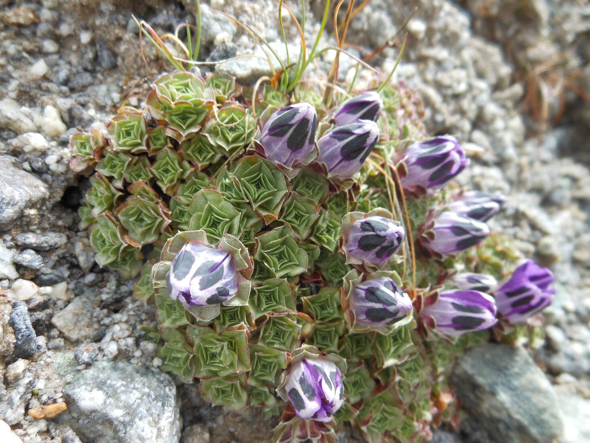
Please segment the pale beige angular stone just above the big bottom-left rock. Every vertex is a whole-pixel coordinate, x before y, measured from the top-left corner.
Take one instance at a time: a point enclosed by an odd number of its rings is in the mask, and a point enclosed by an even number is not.
[[[93,299],[80,295],[51,319],[51,323],[60,330],[65,338],[72,342],[92,337],[99,329],[92,319]]]

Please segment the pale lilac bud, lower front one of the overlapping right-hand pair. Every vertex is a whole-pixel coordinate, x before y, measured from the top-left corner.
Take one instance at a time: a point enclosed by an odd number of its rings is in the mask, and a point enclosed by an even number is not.
[[[461,252],[478,245],[490,235],[486,223],[446,211],[434,219],[434,239],[423,243],[425,247],[440,254]]]

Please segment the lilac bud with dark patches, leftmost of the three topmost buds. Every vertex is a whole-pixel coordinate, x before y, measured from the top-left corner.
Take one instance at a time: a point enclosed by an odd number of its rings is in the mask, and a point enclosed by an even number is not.
[[[267,120],[260,144],[274,163],[291,167],[313,151],[317,114],[309,103],[295,103],[279,109]]]

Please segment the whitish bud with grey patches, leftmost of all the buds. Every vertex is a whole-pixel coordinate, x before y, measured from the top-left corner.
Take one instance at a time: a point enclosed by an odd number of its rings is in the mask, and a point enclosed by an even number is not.
[[[170,297],[186,308],[231,299],[238,292],[231,254],[200,243],[186,243],[172,260],[166,287]]]

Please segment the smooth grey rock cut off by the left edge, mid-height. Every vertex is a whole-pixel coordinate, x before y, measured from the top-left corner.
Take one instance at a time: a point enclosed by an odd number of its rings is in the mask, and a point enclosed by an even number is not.
[[[23,171],[17,159],[0,156],[0,230],[11,227],[23,209],[47,196],[47,185]]]

